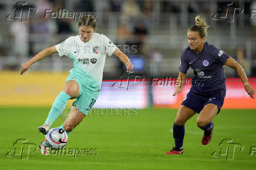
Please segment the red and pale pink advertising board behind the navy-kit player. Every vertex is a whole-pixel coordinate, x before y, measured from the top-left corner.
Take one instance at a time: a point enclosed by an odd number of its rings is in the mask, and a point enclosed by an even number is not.
[[[256,89],[256,78],[249,78],[249,82]],[[256,108],[256,100],[250,98],[244,90],[244,85],[240,79],[227,78],[225,84],[227,91],[222,108]],[[153,106],[178,108],[190,88],[191,85],[187,84],[179,95],[173,96],[176,89],[175,86],[153,86],[151,88]]]

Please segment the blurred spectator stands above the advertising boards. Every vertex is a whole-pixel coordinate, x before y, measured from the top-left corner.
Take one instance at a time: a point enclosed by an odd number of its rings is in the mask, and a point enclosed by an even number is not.
[[[105,34],[127,56],[136,58],[134,66],[150,76],[177,76],[181,52],[188,46],[187,29],[194,24],[195,16],[200,14],[210,25],[207,42],[234,57],[248,76],[256,75],[256,16],[252,11],[256,9],[256,1],[253,0],[232,3],[225,0],[18,2],[0,2],[0,70],[19,70],[21,63],[46,47],[78,35],[78,19],[74,21],[65,15],[45,17],[49,11],[69,11],[96,12],[96,32]],[[22,19],[28,19],[28,22],[22,22]],[[40,61],[33,70],[64,72],[71,66],[68,60],[53,55]],[[106,62],[105,75],[114,79],[113,72],[123,69],[120,62],[111,60]],[[228,77],[237,76],[234,70],[227,69],[225,73]]]

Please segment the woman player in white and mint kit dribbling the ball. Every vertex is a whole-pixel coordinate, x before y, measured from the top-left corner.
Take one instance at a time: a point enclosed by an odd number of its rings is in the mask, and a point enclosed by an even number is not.
[[[128,57],[109,38],[95,32],[96,21],[93,16],[84,16],[79,19],[78,30],[79,35],[70,36],[62,43],[44,49],[22,64],[21,74],[26,72],[32,63],[56,52],[60,57],[65,55],[73,60],[74,68],[69,72],[65,89],[55,99],[45,123],[38,128],[42,134],[49,131],[50,125],[62,113],[71,98],[76,98],[76,100],[72,104],[68,118],[60,126],[67,134],[89,113],[99,95],[107,55],[116,55],[126,64],[127,70],[133,70],[133,64]],[[45,141],[41,142],[41,152],[43,155],[49,154]]]

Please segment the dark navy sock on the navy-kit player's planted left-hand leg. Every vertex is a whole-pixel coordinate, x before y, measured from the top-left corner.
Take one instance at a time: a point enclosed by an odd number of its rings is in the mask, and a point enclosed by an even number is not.
[[[175,148],[181,149],[183,148],[183,139],[185,135],[185,126],[173,124],[173,138],[175,141]]]

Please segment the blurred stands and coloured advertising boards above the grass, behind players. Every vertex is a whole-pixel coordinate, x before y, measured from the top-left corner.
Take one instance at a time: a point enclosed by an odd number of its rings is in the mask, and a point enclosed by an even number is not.
[[[17,2],[0,2],[1,106],[50,106],[63,89],[72,62],[57,54],[33,64],[23,76],[18,73],[21,63],[45,47],[78,34],[78,20],[44,18],[46,9],[97,12],[96,32],[104,33],[119,45],[132,60],[135,73],[149,80],[151,77],[177,77],[180,54],[187,47],[187,29],[194,24],[194,17],[200,14],[210,25],[207,42],[234,57],[248,77],[256,76],[256,16],[250,18],[251,10],[256,9],[256,1],[39,0],[15,6]],[[38,9],[38,12],[28,14],[29,8]],[[15,12],[19,16],[21,10],[24,13],[22,19],[29,16],[28,22],[21,22],[19,17],[6,19],[9,14],[14,16]],[[216,13],[217,20],[212,18]],[[227,18],[224,18],[226,13]],[[130,48],[129,52],[124,45]],[[136,45],[136,52],[132,50],[133,45]],[[123,69],[117,57],[108,57],[103,79],[120,79]],[[237,77],[235,71],[226,66],[225,73],[227,77]],[[190,69],[188,78],[192,76]],[[181,96],[171,97],[174,86],[150,87],[149,82],[144,82],[135,90],[127,91],[125,87],[115,89],[113,82],[103,82],[96,107],[145,108],[153,104],[177,108],[188,91],[185,89]],[[250,82],[255,88],[255,79],[250,79]],[[227,80],[227,87],[224,108],[256,108],[255,101],[247,96],[240,80]]]

